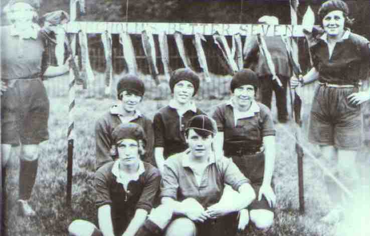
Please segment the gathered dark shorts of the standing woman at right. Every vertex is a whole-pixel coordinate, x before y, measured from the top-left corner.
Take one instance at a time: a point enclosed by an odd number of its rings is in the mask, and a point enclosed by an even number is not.
[[[358,150],[362,144],[361,106],[349,104],[347,96],[358,88],[330,88],[319,85],[312,101],[308,140],[344,150]]]

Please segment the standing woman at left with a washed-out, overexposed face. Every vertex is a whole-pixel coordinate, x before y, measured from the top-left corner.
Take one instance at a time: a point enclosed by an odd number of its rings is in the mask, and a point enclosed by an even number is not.
[[[45,41],[37,19],[38,1],[11,0],[6,13],[12,25],[1,29],[2,168],[14,146],[20,148],[19,213],[35,215],[28,201],[35,184],[39,144],[48,139],[49,99],[42,76],[68,72],[68,64],[47,67]]]

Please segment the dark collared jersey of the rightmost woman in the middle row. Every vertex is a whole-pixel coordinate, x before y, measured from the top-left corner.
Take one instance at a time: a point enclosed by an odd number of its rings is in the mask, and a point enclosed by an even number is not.
[[[250,110],[251,113],[235,121],[231,101],[216,106],[212,118],[217,123],[218,131],[224,132],[224,149],[228,144],[237,144],[241,141],[253,147],[261,147],[264,136],[275,135],[272,115],[268,107],[254,101]]]

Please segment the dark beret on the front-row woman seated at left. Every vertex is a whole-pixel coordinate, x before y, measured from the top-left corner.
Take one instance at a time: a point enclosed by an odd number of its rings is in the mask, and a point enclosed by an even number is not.
[[[122,123],[114,128],[112,132],[113,144],[118,144],[122,139],[126,138],[136,141],[146,141],[146,136],[143,128],[139,124],[132,122]]]

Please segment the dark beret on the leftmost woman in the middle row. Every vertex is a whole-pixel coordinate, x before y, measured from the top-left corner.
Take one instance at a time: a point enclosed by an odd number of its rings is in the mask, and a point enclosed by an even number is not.
[[[136,75],[125,75],[117,83],[117,97],[120,99],[120,94],[124,91],[132,91],[139,96],[144,96],[145,86],[142,80]]]

